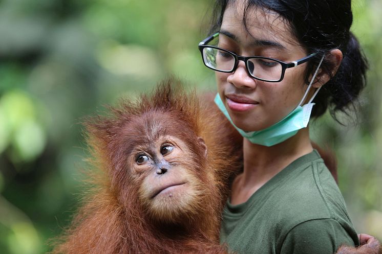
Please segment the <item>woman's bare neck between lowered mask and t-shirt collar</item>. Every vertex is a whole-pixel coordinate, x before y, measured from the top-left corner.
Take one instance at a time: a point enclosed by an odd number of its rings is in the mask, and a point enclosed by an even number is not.
[[[292,161],[312,151],[308,128],[271,147],[252,144],[244,138],[244,171],[234,181],[231,203],[245,202]]]

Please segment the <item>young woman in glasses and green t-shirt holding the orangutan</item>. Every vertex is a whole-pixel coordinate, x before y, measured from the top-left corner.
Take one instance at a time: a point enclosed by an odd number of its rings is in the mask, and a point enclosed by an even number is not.
[[[245,137],[221,242],[239,254],[358,245],[308,129],[328,107],[345,111],[365,86],[350,0],[222,0],[215,11],[214,34],[199,48],[216,71],[216,104]]]

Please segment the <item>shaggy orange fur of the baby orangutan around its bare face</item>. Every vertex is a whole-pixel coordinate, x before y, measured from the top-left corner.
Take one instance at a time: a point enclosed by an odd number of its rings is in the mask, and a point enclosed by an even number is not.
[[[218,244],[220,217],[229,181],[241,168],[241,140],[232,138],[234,130],[217,117],[217,110],[173,83],[168,80],[153,95],[122,101],[111,108],[111,116],[87,122],[93,165],[101,174],[92,174],[94,188],[52,253],[226,253]],[[153,223],[126,162],[140,133],[155,136],[157,127],[171,130],[193,151],[194,156],[184,158],[185,168],[198,169],[194,174],[203,190],[201,203],[194,203],[179,225]],[[198,137],[207,146],[206,158]]]

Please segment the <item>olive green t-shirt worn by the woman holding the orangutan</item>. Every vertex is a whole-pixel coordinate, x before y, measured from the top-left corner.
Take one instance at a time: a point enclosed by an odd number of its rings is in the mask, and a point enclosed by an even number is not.
[[[332,254],[358,245],[344,199],[317,151],[275,175],[245,203],[223,211],[221,243],[237,254]]]

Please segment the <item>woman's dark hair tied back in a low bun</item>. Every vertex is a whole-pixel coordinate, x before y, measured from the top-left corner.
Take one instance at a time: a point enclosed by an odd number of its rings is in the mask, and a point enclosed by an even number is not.
[[[216,0],[211,33],[219,31],[224,10],[233,2],[235,0]],[[353,21],[351,0],[247,0],[243,13],[245,27],[246,17],[252,14],[253,7],[278,13],[288,22],[292,33],[307,52],[317,52],[308,63],[307,82],[324,54],[329,54],[333,49],[342,51],[343,61],[334,76],[331,75],[332,63],[326,60],[322,63],[322,70],[331,79],[314,99],[316,105],[312,117],[321,116],[330,106],[330,112],[337,120],[335,112],[347,113],[349,106],[354,107],[355,99],[366,85],[368,66],[357,39],[350,32]]]

